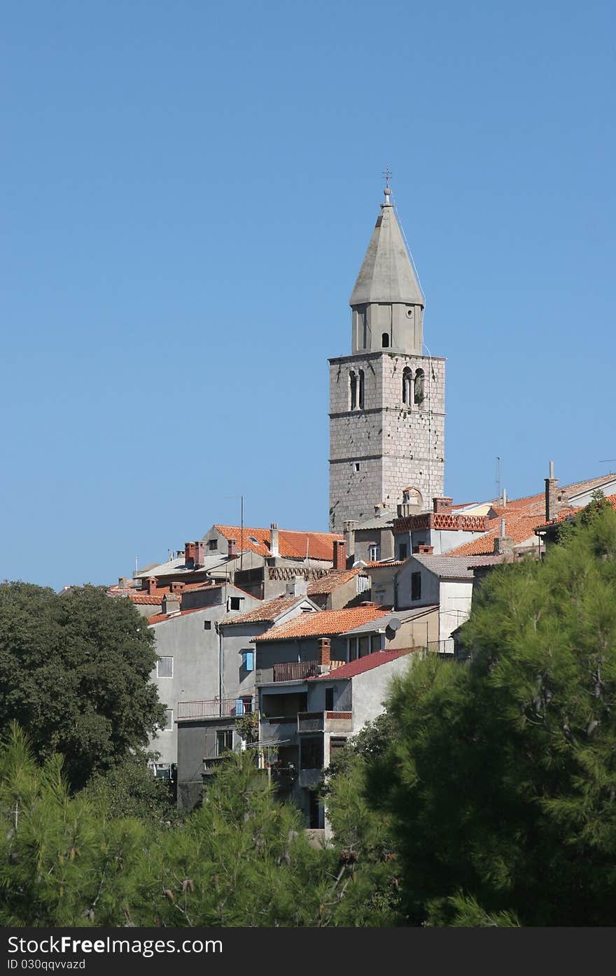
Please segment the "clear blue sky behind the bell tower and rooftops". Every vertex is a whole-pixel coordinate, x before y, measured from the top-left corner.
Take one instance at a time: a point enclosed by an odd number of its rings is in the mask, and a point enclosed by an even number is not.
[[[0,577],[325,529],[327,357],[392,186],[446,490],[616,463],[613,2],[43,0],[0,36]]]

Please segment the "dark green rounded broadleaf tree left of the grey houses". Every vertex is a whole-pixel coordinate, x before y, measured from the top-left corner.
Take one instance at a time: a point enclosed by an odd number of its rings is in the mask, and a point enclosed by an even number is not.
[[[139,752],[162,722],[143,617],[103,588],[0,585],[0,731],[12,720],[36,755],[64,754],[72,789]]]

